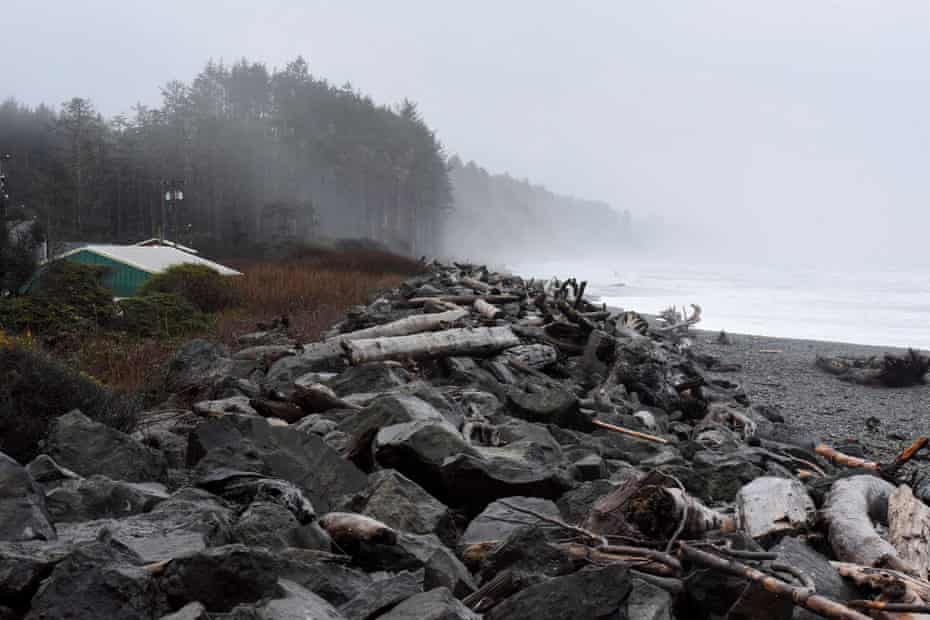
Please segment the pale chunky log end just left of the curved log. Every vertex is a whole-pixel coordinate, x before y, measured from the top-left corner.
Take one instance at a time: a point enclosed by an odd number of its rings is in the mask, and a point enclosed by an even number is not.
[[[736,511],[740,529],[764,543],[811,527],[817,509],[799,481],[763,476],[739,490]]]

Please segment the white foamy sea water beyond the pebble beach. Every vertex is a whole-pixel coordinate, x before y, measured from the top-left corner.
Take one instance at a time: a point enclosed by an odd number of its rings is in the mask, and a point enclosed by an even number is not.
[[[512,265],[574,276],[611,306],[656,314],[703,308],[702,329],[930,349],[930,274],[634,261]]]

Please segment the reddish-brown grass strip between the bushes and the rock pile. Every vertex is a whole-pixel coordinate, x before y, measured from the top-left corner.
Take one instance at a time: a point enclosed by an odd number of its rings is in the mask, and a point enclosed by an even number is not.
[[[366,248],[301,248],[277,260],[226,261],[241,271],[231,279],[236,307],[213,315],[203,333],[176,339],[88,337],[73,353],[83,372],[108,387],[139,393],[163,376],[181,342],[201,337],[237,347],[237,338],[260,322],[287,316],[289,333],[312,342],[355,305],[422,271],[417,261]]]

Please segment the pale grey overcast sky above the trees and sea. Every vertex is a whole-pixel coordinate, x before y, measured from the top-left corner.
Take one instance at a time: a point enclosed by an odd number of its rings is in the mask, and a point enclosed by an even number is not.
[[[29,104],[113,115],[297,55],[465,160],[657,215],[682,260],[930,263],[928,2],[0,3],[0,97]]]

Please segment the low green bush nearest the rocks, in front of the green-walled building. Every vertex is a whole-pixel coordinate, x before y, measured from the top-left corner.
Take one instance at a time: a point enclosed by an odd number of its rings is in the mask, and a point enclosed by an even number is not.
[[[148,293],[118,302],[116,326],[134,336],[172,338],[202,331],[207,317],[186,298],[174,293]]]

